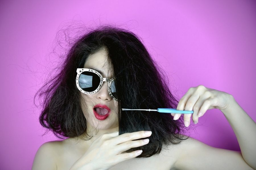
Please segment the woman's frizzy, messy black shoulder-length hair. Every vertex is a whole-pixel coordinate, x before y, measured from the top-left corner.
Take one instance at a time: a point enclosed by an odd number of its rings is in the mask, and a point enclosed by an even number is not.
[[[171,114],[155,111],[122,111],[121,108],[157,109],[177,108],[178,101],[168,88],[164,71],[152,59],[140,37],[127,29],[113,25],[99,26],[80,36],[73,43],[61,69],[34,96],[43,97],[40,124],[63,137],[86,134],[86,119],[81,109],[81,92],[76,86],[76,69],[83,68],[90,54],[106,49],[108,62],[117,77],[119,135],[135,131],[152,131],[149,143],[126,152],[143,150],[136,158],[146,158],[166,145],[177,145],[188,139],[181,135],[183,116],[173,120]],[[146,139],[146,138],[142,138]]]

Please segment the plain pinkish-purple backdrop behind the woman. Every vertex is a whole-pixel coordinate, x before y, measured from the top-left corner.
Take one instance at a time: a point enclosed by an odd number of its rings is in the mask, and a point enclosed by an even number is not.
[[[50,54],[57,31],[74,22],[124,25],[143,38],[179,99],[202,84],[232,94],[256,120],[255,9],[253,0],[1,1],[0,169],[31,169],[40,145],[60,140],[52,133],[40,136],[40,110],[32,101],[61,53]],[[220,110],[208,110],[191,125],[191,137],[240,150]]]

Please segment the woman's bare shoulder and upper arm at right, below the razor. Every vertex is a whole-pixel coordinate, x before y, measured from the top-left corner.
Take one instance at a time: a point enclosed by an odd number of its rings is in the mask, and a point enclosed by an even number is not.
[[[174,169],[252,169],[240,151],[215,148],[189,137],[176,152]]]

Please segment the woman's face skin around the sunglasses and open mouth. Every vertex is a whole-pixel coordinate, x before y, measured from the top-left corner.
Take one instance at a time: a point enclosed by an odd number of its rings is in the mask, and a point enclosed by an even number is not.
[[[111,79],[114,77],[110,63],[107,62],[105,49],[89,55],[88,59],[84,63],[84,68],[91,68],[99,71],[103,78]],[[94,106],[98,104],[106,105],[110,109],[109,116],[104,120],[99,120],[94,115]],[[100,90],[94,94],[84,94],[81,92],[81,107],[86,118],[87,129],[89,131],[118,127],[118,102],[111,98],[108,92],[108,82],[104,81]]]

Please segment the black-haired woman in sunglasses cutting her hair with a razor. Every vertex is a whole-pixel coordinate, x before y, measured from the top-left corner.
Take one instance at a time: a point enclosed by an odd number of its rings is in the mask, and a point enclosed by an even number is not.
[[[178,102],[134,33],[108,25],[92,30],[72,46],[61,68],[50,86],[40,89],[45,95],[40,123],[57,137],[69,138],[40,146],[32,169],[256,168],[256,124],[232,95],[200,85]],[[191,114],[172,114],[173,119],[121,108],[193,110],[195,124],[200,113],[220,109],[241,152],[181,135]]]

